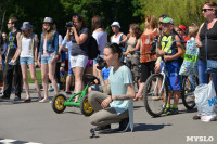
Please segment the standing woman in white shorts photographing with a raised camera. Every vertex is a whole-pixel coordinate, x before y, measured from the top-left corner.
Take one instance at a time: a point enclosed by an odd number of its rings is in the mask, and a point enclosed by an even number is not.
[[[75,15],[72,18],[73,26],[67,27],[66,41],[73,42],[73,48],[71,50],[71,68],[73,69],[75,76],[75,90],[74,93],[77,93],[84,90],[82,75],[88,62],[88,42],[90,39],[89,29],[86,28],[85,21],[81,16]],[[73,31],[73,35],[69,36],[69,32]],[[79,96],[75,97],[77,102]]]

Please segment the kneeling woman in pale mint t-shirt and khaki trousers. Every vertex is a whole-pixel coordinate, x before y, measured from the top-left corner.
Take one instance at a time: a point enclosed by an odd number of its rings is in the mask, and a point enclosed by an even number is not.
[[[112,95],[91,91],[88,95],[94,114],[90,117],[95,131],[110,129],[111,123],[119,122],[118,131],[133,130],[133,101],[135,89],[130,69],[122,65],[119,58],[122,49],[118,44],[106,44],[104,60],[113,67],[110,70],[108,87]]]

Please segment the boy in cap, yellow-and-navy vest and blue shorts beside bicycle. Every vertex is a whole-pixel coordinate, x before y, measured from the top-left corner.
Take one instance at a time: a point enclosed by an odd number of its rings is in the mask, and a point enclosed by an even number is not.
[[[178,102],[181,90],[180,78],[179,78],[179,68],[180,64],[178,58],[182,54],[182,47],[179,36],[173,32],[174,29],[174,21],[170,17],[166,17],[162,21],[163,36],[159,39],[158,44],[158,54],[164,55],[164,60],[166,62],[165,68],[168,70],[169,77],[167,80],[168,83],[168,101],[166,105],[166,114],[177,114],[178,113]],[[173,43],[174,40],[177,40]],[[171,49],[168,51],[169,47]],[[170,99],[171,93],[174,91],[174,105],[170,108]]]

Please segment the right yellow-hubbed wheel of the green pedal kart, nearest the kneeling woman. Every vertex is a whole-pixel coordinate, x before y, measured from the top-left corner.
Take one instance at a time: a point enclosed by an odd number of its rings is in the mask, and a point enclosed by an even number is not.
[[[88,101],[88,96],[87,95],[85,95],[80,101],[80,112],[85,116],[90,116],[94,112],[93,108],[91,107],[89,101]]]

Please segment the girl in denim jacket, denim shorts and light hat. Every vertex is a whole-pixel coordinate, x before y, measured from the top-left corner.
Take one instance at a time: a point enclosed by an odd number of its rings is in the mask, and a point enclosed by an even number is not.
[[[59,50],[59,35],[55,30],[53,30],[52,24],[53,19],[51,17],[46,17],[42,25],[43,31],[41,34],[38,63],[41,60],[41,75],[44,97],[39,101],[40,103],[49,101],[49,79],[51,80],[52,87],[54,88],[54,93],[58,94],[58,84],[54,78],[54,73]]]

